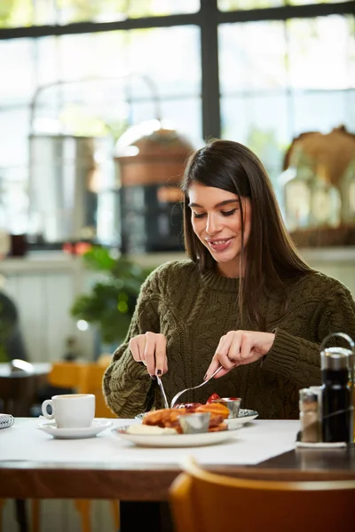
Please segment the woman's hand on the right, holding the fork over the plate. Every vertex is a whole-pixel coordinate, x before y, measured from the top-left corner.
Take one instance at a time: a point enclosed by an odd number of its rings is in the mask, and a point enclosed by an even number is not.
[[[223,369],[217,373],[216,377],[223,377],[235,366],[256,362],[259,358],[272,348],[275,335],[272,332],[256,331],[230,331],[219,340],[216,353],[209,364],[204,379],[222,365]]]

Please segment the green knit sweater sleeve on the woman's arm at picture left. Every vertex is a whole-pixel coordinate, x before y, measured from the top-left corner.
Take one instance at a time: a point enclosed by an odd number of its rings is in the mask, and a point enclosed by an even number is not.
[[[159,295],[153,272],[142,285],[130,329],[122,345],[114,352],[106,369],[103,392],[108,407],[119,418],[134,418],[148,410],[154,402],[156,382],[146,372],[146,366],[134,360],[130,353],[130,339],[145,332],[159,332]]]

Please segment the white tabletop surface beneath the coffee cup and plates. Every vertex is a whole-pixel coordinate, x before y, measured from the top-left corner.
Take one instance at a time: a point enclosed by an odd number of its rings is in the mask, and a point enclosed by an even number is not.
[[[56,468],[68,464],[105,468],[120,466],[178,467],[186,454],[193,454],[204,465],[256,465],[295,448],[298,421],[252,421],[233,431],[226,442],[191,448],[138,447],[112,432],[115,426],[138,423],[133,419],[112,419],[113,426],[96,437],[59,440],[36,428],[46,419],[17,419],[14,426],[0,432],[2,461],[26,461]],[[26,444],[24,443],[26,442]]]

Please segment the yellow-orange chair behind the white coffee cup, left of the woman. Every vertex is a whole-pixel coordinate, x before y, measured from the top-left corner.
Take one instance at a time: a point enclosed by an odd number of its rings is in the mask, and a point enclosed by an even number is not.
[[[79,363],[79,362],[54,362],[48,381],[52,386],[71,387],[78,394],[95,395],[95,417],[116,418],[113,411],[106,406],[102,393],[102,379],[106,370],[105,364]],[[32,531],[39,532],[39,499],[32,501]],[[114,528],[120,528],[120,506],[118,501],[111,500],[111,511]],[[82,532],[91,532],[91,500],[75,499],[75,508],[80,514]]]

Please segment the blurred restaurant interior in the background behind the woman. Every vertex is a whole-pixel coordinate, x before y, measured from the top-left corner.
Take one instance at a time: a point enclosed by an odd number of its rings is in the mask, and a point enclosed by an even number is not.
[[[103,373],[185,257],[179,181],[213,138],[256,153],[304,260],[355,298],[353,1],[0,4],[0,412],[80,393],[114,418]],[[4,532],[119,528],[118,499],[14,498]]]

